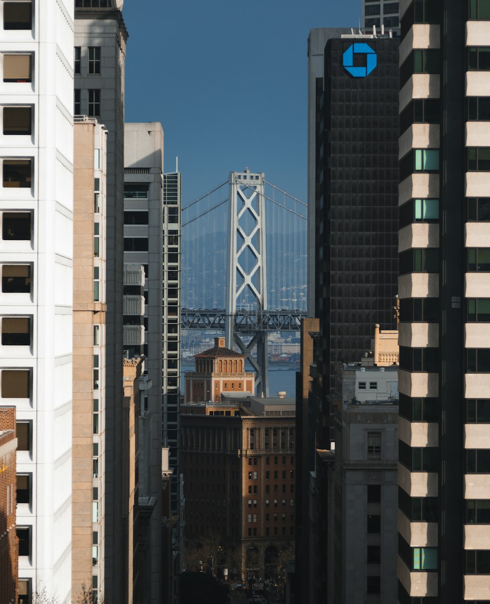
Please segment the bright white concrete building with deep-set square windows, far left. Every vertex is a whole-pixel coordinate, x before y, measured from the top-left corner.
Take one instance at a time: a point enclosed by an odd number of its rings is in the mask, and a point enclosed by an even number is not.
[[[17,471],[22,590],[71,591],[73,2],[4,1],[0,35],[1,393]]]

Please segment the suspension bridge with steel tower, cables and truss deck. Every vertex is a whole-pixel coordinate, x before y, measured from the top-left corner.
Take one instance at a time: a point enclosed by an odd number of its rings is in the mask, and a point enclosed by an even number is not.
[[[182,207],[182,329],[225,332],[268,396],[267,335],[306,316],[306,204],[265,180],[230,172]]]

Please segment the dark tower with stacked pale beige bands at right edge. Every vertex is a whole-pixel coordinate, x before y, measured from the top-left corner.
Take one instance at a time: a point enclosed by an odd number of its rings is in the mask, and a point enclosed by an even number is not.
[[[401,28],[398,602],[485,602],[488,3],[404,2]]]

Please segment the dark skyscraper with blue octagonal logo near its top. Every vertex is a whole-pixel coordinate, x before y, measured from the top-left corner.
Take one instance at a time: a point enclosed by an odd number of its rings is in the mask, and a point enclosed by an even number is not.
[[[398,292],[398,46],[327,40],[317,139],[316,275],[323,391],[392,329]]]

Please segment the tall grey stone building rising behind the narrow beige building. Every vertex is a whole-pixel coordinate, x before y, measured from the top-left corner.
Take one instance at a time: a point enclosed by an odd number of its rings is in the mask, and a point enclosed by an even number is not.
[[[123,422],[123,180],[124,59],[127,31],[122,0],[76,0],[74,39],[74,114],[97,118],[108,130],[106,161],[106,313],[105,457],[99,472],[105,507],[103,579],[105,602],[124,593],[124,521],[121,493]],[[93,584],[95,590],[95,583]]]

